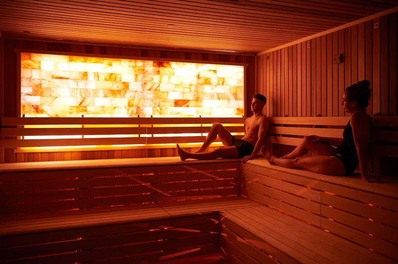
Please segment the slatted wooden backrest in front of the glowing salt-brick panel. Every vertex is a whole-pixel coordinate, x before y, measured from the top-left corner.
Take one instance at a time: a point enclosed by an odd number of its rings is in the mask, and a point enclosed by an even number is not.
[[[215,122],[230,132],[245,132],[243,117],[3,118],[0,148],[198,143]]]

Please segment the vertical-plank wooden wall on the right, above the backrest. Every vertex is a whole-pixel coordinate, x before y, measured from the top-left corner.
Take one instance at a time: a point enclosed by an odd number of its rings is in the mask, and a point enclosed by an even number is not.
[[[259,87],[273,96],[269,101],[277,106],[274,108],[277,111],[270,112],[269,116],[347,116],[341,106],[344,89],[363,79],[371,82],[373,90],[367,113],[397,116],[397,49],[395,12],[260,55],[264,57],[265,72],[274,73],[273,80],[277,82],[265,82],[264,87]],[[275,54],[277,56],[273,56]],[[340,64],[333,63],[333,56],[337,54],[343,55]],[[267,56],[270,63],[264,63]],[[291,69],[293,77],[289,75]],[[286,151],[275,154],[279,152]],[[396,172],[398,160],[387,159],[373,157],[369,162],[370,171]]]

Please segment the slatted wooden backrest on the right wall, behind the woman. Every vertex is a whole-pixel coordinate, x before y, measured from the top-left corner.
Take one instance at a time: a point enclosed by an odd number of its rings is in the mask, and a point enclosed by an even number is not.
[[[341,139],[349,120],[349,117],[269,118],[269,141],[298,146],[306,135]],[[380,156],[398,157],[398,117],[372,117],[372,129],[372,152]]]

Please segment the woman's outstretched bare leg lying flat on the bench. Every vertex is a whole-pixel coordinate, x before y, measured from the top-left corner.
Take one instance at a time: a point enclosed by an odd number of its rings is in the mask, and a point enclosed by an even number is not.
[[[295,159],[280,159],[271,154],[266,146],[261,153],[270,162],[290,169],[302,169],[325,175],[345,175],[343,162],[334,156],[298,157]]]

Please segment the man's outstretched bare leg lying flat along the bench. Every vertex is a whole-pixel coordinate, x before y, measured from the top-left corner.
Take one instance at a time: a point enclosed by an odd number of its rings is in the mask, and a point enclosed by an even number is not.
[[[220,147],[211,152],[206,152],[206,153],[190,153],[190,152],[184,151],[177,144],[177,153],[180,156],[182,161],[184,161],[186,159],[209,160],[209,159],[216,159],[216,158],[237,158],[239,156],[238,149],[235,146]]]

